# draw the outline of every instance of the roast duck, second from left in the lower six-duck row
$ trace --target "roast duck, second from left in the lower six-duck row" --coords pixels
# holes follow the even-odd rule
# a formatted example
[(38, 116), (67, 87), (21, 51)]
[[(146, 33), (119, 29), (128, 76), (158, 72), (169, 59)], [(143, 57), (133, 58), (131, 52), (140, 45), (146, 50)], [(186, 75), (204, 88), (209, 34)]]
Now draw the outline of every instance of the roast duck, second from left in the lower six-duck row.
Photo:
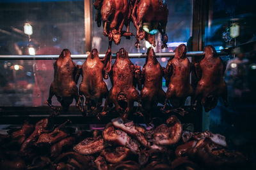
[(82, 66), (83, 79), (79, 86), (79, 94), (81, 95), (82, 105), (83, 96), (86, 99), (86, 111), (97, 110), (102, 104), (102, 98), (108, 96), (108, 87), (103, 81), (103, 77), (108, 78), (111, 64), (109, 58), (104, 59), (104, 63), (100, 61), (97, 49), (93, 49), (84, 62)]

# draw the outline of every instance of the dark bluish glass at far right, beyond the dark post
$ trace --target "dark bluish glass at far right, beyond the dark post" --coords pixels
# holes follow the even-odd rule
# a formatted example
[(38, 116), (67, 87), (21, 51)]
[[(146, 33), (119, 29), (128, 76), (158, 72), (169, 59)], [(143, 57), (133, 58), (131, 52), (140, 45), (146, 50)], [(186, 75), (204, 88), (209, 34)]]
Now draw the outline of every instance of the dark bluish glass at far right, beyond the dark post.
[[(205, 113), (204, 129), (221, 132), (230, 148), (239, 149), (255, 160), (255, 5), (256, 1), (212, 1), (212, 20), (205, 29), (205, 44), (228, 50), (225, 82), (228, 104)], [(253, 149), (252, 149), (253, 148)], [(253, 164), (255, 166), (255, 163)]]

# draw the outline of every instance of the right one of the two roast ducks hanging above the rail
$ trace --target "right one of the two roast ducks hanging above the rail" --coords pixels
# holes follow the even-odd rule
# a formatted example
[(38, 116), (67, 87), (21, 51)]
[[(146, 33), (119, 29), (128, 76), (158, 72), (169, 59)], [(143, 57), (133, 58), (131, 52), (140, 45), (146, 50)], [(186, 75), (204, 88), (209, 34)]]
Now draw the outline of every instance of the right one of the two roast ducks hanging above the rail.
[(137, 29), (135, 46), (140, 47), (140, 41), (145, 38), (150, 44), (156, 46), (155, 34), (162, 35), (162, 48), (167, 48), (168, 36), (166, 24), (168, 8), (163, 0), (136, 0), (132, 10), (132, 22)]

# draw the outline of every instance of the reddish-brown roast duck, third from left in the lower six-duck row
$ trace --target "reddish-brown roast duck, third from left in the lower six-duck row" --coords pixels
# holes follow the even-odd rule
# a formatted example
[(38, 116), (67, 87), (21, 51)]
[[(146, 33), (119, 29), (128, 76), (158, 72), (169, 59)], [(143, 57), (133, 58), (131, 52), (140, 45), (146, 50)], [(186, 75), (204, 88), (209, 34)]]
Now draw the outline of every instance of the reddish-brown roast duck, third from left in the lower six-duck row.
[(121, 48), (116, 53), (116, 60), (111, 69), (110, 78), (113, 86), (109, 90), (102, 115), (106, 114), (109, 103), (115, 104), (116, 111), (122, 118), (127, 118), (131, 113), (134, 101), (137, 101), (140, 106), (140, 94), (134, 87), (135, 77), (140, 73), (140, 66), (134, 66), (129, 60), (128, 53)]

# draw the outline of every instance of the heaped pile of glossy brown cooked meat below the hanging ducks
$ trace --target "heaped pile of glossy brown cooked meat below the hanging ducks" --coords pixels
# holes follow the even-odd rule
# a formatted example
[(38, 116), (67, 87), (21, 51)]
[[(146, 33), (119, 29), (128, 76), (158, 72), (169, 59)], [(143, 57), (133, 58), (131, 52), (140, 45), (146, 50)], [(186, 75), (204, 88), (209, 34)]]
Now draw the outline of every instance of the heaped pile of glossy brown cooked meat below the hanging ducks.
[(164, 124), (114, 118), (103, 131), (80, 131), (69, 120), (35, 125), (0, 136), (0, 169), (246, 169), (248, 160), (227, 149), (225, 136), (183, 129), (172, 115)]

